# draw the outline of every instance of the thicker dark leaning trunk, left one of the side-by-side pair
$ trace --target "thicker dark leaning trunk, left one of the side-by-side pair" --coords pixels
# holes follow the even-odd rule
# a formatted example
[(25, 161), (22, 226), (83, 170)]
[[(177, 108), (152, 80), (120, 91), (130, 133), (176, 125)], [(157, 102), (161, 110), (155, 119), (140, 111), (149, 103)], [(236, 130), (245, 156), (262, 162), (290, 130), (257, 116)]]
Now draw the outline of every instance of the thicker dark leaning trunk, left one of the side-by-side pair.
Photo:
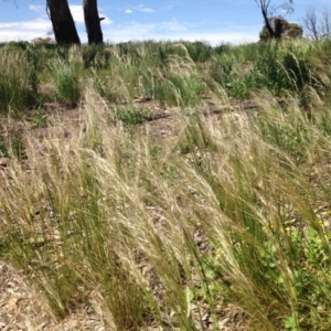
[(60, 44), (81, 44), (67, 0), (47, 0), (55, 40)]

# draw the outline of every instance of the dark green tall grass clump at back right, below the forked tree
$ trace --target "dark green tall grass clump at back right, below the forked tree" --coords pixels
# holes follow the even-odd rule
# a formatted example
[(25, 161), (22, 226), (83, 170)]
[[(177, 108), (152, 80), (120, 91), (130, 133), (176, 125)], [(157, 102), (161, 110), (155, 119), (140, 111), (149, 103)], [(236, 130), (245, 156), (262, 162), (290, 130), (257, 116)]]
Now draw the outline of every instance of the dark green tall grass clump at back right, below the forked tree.
[(329, 60), (318, 54), (319, 47), (308, 41), (224, 49), (212, 62), (211, 75), (235, 98), (247, 98), (266, 87), (278, 97), (296, 93), (308, 104), (311, 88), (323, 93), (330, 83)]

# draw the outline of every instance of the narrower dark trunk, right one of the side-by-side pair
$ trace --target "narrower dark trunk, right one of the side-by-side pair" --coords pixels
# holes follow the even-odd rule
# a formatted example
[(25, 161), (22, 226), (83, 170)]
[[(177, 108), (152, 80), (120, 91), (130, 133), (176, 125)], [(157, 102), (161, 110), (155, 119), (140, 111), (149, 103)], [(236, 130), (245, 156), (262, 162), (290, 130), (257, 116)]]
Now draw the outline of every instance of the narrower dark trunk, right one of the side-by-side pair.
[(103, 44), (102, 19), (98, 14), (97, 0), (84, 0), (84, 19), (88, 44)]

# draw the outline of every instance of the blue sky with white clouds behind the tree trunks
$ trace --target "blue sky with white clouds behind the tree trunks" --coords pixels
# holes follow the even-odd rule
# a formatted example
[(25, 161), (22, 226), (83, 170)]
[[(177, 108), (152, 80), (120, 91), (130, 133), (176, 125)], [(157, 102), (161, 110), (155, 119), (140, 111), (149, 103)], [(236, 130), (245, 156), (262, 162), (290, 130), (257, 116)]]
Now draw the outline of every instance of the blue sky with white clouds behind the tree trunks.
[[(277, 6), (284, 0), (271, 0)], [(331, 7), (330, 0), (293, 0), (285, 18), (300, 23), (308, 8)], [(0, 42), (53, 38), (46, 0), (0, 0)], [(83, 0), (68, 0), (81, 42), (87, 41)], [(204, 41), (249, 43), (263, 28), (255, 0), (98, 0), (104, 41)], [(279, 12), (281, 13), (281, 12)]]

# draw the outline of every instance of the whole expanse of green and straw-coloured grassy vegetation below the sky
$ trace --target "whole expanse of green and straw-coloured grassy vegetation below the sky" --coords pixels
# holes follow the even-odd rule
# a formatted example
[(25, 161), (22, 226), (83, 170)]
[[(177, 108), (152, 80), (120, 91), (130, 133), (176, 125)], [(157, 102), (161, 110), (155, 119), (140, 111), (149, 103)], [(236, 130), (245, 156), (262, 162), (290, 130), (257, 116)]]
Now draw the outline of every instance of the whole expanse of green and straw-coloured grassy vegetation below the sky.
[(330, 53), (3, 45), (0, 259), (55, 318), (88, 306), (109, 330), (223, 330), (228, 307), (245, 330), (330, 330)]

